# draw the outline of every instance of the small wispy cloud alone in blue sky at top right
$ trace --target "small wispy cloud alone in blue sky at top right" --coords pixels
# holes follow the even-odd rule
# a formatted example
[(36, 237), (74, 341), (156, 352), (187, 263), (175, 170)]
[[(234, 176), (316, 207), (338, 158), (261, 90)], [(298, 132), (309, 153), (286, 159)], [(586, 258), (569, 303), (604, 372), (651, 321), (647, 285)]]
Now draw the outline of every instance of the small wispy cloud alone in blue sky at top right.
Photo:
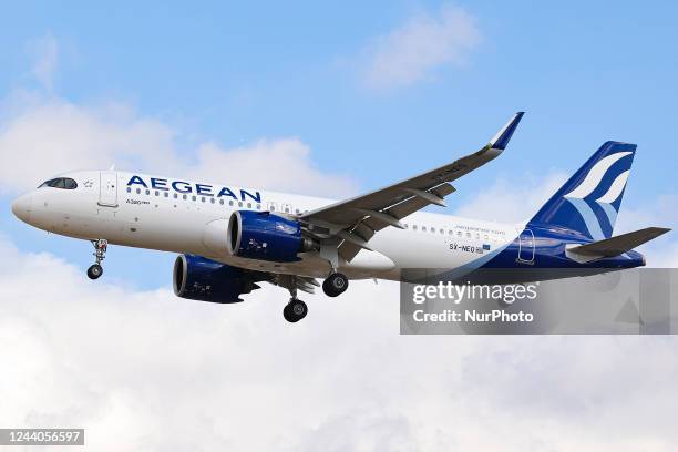
[(442, 65), (463, 66), (480, 42), (475, 18), (462, 8), (417, 13), (363, 50), (364, 81), (376, 89), (411, 85)]

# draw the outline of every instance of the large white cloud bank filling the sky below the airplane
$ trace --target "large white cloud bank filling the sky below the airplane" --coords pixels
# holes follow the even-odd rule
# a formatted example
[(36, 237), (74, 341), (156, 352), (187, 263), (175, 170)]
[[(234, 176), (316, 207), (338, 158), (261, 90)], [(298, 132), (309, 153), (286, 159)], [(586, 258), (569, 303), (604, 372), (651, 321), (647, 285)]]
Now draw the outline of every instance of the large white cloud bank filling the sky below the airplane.
[[(400, 336), (398, 285), (178, 299), (0, 239), (0, 424), (88, 450), (670, 450), (672, 337)], [(577, 369), (573, 378), (572, 369)], [(610, 438), (607, 432), (617, 432)]]

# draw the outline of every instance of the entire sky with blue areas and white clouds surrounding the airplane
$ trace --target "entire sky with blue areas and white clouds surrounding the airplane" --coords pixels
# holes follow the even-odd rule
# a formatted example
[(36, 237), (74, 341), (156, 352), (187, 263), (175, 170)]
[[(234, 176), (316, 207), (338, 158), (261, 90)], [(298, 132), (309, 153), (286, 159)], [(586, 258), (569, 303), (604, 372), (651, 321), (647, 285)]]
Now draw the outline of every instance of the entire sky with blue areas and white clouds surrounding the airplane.
[[(236, 306), (175, 298), (171, 254), (111, 247), (91, 282), (89, 243), (30, 228), (10, 203), (113, 164), (341, 198), (474, 152), (526, 111), (506, 152), (433, 212), (527, 218), (617, 140), (638, 152), (616, 232), (675, 228), (677, 13), (653, 1), (6, 6), (0, 424), (84, 425), (92, 450), (117, 451), (194, 445), (178, 432), (204, 450), (669, 450), (672, 338), (401, 337), (398, 286), (367, 281), (309, 297), (292, 328), (278, 288)], [(650, 265), (678, 265), (674, 235), (644, 249)]]

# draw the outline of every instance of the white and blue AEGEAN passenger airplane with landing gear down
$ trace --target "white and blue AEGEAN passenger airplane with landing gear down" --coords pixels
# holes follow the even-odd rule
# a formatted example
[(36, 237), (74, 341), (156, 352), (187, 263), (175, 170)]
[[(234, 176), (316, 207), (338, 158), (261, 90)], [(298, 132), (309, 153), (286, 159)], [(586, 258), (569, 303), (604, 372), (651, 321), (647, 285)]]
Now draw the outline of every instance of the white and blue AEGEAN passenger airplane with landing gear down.
[(613, 236), (635, 144), (604, 143), (521, 224), (420, 212), (445, 206), (452, 182), (497, 157), (523, 114), (475, 153), (346, 201), (110, 170), (53, 177), (19, 196), (12, 212), (37, 228), (90, 240), (91, 279), (102, 275), (109, 244), (174, 251), (176, 296), (232, 304), (270, 282), (289, 291), (282, 314), (290, 322), (306, 317), (297, 294), (314, 292), (317, 279), (337, 297), (350, 279), (399, 280), (407, 268), (590, 275), (644, 266), (634, 248), (670, 229)]

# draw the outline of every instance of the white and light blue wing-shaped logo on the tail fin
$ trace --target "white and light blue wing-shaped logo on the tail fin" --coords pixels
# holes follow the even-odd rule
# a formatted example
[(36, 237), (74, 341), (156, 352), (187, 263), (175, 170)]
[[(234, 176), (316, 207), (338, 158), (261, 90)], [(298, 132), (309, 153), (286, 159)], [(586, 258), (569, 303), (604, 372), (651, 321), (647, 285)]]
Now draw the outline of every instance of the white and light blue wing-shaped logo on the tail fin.
[[(600, 240), (609, 234), (604, 234), (603, 228), (608, 229), (612, 233), (612, 228), (617, 219), (619, 203), (617, 199), (622, 196), (626, 181), (630, 173), (630, 163), (626, 171), (617, 174), (616, 176), (610, 173), (610, 168), (619, 160), (627, 155), (633, 154), (631, 152), (618, 152), (615, 154), (607, 155), (600, 158), (586, 174), (584, 181), (577, 185), (572, 192), (564, 195), (564, 197), (572, 203), (577, 209), (586, 228), (594, 240)], [(614, 179), (612, 179), (614, 177)], [(607, 186), (607, 189), (602, 195), (599, 194), (603, 189), (603, 185)], [(597, 196), (592, 196), (598, 194)], [(598, 206), (599, 208), (596, 208)], [(603, 212), (605, 217), (600, 214), (596, 214), (596, 210)]]

